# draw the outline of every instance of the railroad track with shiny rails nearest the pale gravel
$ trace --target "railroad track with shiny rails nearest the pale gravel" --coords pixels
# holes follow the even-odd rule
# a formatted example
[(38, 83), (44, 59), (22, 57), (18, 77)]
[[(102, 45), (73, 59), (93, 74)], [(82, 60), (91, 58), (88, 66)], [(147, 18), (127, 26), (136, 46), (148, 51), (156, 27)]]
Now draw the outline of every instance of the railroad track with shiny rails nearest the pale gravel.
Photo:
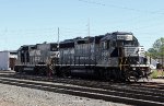
[[(44, 81), (32, 81), (12, 78), (0, 78), (0, 83), (16, 85), (22, 87), (38, 89), (49, 92), (70, 94), (75, 96), (83, 96), (96, 99), (104, 99), (116, 103), (124, 103), (130, 105), (140, 106), (164, 106), (164, 93), (153, 93), (145, 91), (125, 91), (122, 87), (116, 89), (116, 86), (110, 90), (96, 89), (89, 86), (79, 86), (66, 83), (52, 83)], [(144, 92), (144, 94), (143, 94)]]

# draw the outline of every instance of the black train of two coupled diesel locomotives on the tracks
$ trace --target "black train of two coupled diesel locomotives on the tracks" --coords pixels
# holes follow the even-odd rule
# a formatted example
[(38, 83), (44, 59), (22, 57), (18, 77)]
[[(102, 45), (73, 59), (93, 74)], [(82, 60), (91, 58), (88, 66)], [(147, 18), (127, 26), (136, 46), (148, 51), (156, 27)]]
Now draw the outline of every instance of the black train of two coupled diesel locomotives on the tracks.
[(116, 81), (138, 81), (151, 73), (143, 47), (127, 32), (26, 45), (20, 47), (17, 55), (16, 72)]

